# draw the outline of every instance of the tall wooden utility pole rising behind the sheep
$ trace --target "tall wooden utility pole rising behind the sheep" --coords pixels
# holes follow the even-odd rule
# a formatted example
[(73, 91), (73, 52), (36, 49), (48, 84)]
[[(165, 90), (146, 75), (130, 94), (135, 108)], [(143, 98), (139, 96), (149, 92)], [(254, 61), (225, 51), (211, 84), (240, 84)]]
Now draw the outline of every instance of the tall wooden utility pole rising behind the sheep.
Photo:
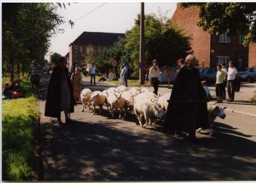
[[(140, 12), (140, 63), (145, 61), (145, 49), (144, 49), (144, 3), (141, 3), (141, 12)], [(145, 76), (144, 70), (140, 68), (140, 84), (144, 84)]]

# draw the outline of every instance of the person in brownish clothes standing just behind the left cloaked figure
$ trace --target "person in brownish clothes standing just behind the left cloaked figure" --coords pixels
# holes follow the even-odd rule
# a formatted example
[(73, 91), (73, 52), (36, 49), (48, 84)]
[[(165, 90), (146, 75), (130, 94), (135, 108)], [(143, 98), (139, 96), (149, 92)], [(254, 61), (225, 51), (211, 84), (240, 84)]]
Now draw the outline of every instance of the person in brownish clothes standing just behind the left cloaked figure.
[(81, 93), (81, 83), (82, 83), (82, 76), (80, 74), (79, 68), (76, 67), (75, 73), (71, 76), (71, 82), (73, 84), (73, 91), (74, 91), (74, 101), (75, 104), (80, 99), (80, 93)]

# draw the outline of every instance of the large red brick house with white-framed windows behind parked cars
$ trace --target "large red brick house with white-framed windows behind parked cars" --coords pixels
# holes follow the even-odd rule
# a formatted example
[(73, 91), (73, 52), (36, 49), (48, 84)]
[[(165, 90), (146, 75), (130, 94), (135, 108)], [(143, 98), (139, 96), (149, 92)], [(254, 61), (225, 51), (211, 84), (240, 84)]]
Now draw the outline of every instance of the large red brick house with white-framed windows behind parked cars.
[[(249, 47), (243, 46), (243, 33), (234, 36), (228, 36), (227, 33), (212, 35), (197, 26), (198, 13), (195, 6), (182, 10), (177, 3), (170, 23), (177, 25), (185, 35), (191, 36), (191, 48), (201, 67), (216, 67), (223, 62), (228, 65), (228, 61), (234, 61), (236, 67), (241, 68), (248, 67), (249, 59), (255, 60), (255, 52), (250, 51), (249, 54)], [(253, 46), (250, 48), (256, 50)]]

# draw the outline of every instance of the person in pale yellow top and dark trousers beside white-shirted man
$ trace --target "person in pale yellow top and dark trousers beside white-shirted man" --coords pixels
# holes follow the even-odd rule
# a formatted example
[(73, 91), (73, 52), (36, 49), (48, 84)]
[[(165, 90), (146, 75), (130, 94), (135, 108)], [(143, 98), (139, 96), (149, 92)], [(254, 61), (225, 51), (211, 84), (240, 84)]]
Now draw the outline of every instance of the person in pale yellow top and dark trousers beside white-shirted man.
[(223, 91), (225, 91), (225, 76), (226, 73), (221, 70), (221, 65), (217, 67), (218, 71), (216, 74), (216, 97), (219, 97), (218, 102), (222, 102), (223, 100)]

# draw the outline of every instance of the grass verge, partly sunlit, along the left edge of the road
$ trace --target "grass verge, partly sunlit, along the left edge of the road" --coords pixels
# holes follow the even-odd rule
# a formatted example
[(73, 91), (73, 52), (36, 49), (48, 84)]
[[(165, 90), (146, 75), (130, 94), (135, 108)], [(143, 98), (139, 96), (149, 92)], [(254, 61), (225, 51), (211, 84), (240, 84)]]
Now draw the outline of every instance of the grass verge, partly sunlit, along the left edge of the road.
[(3, 100), (4, 180), (30, 180), (31, 156), (35, 153), (36, 99)]

